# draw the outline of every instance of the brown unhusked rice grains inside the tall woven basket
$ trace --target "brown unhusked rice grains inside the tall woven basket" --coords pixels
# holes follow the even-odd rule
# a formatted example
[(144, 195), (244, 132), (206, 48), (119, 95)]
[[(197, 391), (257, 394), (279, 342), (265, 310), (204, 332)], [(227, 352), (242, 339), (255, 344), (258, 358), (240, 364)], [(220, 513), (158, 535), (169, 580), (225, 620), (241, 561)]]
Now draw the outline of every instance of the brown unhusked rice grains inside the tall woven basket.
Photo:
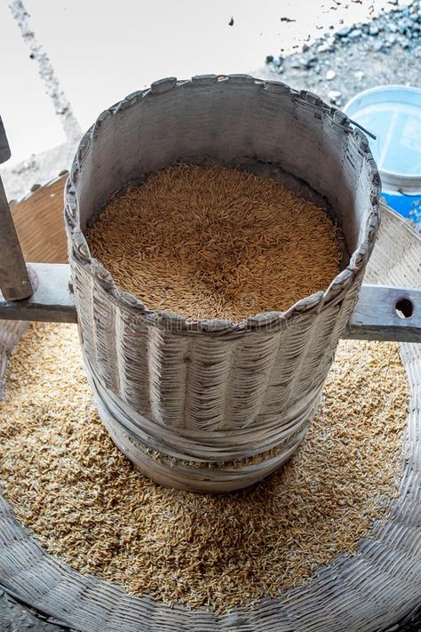
[(88, 231), (91, 254), (147, 308), (231, 318), (284, 311), (340, 271), (341, 232), (272, 180), (173, 164), (115, 198)]

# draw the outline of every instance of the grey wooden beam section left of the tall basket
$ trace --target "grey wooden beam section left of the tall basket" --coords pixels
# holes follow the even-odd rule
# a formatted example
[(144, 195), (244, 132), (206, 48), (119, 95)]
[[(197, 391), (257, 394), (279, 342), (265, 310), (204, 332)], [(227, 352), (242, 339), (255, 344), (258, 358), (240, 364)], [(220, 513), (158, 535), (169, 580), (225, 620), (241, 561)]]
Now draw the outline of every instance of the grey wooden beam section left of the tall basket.
[(76, 323), (75, 297), (68, 287), (69, 265), (31, 263), (28, 268), (36, 278), (34, 293), (13, 301), (0, 293), (0, 319)]

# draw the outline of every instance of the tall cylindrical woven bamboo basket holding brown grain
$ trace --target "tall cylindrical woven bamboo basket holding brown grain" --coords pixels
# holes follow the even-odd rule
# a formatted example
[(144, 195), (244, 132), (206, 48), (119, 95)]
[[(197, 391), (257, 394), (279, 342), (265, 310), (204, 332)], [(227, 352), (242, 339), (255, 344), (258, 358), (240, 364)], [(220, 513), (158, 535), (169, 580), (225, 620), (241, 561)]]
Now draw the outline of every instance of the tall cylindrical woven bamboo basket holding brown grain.
[[(85, 233), (113, 196), (176, 162), (257, 172), (333, 213), (346, 241), (341, 273), (284, 313), (236, 324), (148, 309), (92, 259)], [(365, 136), (338, 109), (285, 84), (168, 78), (99, 116), (68, 178), (68, 256), (99, 413), (136, 466), (161, 484), (226, 492), (290, 457), (361, 286), (377, 234), (378, 190)], [(273, 448), (276, 455), (258, 464), (226, 467)], [(203, 462), (216, 467), (191, 467)]]

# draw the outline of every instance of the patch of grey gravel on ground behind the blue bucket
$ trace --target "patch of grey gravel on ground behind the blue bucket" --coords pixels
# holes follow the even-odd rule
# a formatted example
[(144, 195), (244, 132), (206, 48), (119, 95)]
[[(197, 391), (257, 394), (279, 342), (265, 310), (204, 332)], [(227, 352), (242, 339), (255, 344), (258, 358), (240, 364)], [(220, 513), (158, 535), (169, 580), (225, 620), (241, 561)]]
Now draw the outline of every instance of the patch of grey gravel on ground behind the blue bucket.
[(342, 28), (283, 59), (266, 58), (260, 76), (315, 92), (343, 107), (357, 92), (382, 84), (421, 85), (421, 0), (393, 6), (369, 24)]

